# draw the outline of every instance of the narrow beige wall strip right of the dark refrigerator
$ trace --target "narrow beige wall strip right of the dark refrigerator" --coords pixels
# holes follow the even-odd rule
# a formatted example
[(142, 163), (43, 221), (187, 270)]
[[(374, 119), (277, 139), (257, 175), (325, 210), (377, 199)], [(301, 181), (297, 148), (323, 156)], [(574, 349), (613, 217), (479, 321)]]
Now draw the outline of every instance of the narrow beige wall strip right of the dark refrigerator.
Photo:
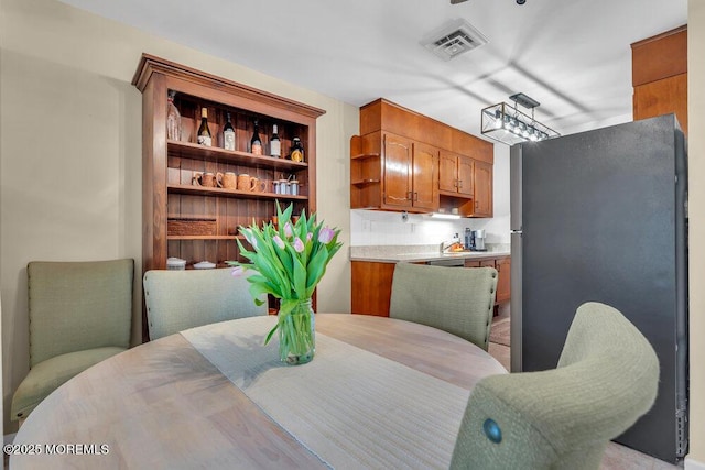
[[(691, 451), (705, 469), (705, 1), (687, 10)], [(688, 463), (691, 463), (688, 461)], [(687, 463), (686, 463), (687, 467)]]

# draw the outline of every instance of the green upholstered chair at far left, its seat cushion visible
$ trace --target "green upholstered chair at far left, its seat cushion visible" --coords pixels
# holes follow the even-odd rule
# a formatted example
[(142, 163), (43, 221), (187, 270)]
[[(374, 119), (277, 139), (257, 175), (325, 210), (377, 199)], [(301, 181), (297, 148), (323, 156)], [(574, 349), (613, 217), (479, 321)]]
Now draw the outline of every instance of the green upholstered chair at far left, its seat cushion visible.
[(10, 412), (20, 423), (64, 382), (130, 347), (134, 261), (33, 261), (26, 274), (30, 372)]

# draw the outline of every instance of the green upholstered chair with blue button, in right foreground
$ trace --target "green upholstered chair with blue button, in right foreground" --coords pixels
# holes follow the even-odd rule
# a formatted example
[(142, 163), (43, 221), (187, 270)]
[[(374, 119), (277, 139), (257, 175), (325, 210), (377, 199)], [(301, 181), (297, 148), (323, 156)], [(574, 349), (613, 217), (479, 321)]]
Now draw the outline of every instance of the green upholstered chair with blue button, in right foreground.
[(647, 413), (659, 360), (617, 309), (578, 307), (556, 369), (492, 375), (470, 394), (453, 469), (598, 469), (608, 441)]

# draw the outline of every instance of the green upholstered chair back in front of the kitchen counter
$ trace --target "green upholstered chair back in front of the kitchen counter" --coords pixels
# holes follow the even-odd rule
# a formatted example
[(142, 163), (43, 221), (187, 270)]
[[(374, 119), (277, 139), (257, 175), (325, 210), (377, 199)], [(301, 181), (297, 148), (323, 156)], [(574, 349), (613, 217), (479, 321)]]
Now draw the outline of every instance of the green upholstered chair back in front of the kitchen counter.
[(496, 291), (494, 267), (397, 263), (389, 316), (448, 331), (487, 351)]

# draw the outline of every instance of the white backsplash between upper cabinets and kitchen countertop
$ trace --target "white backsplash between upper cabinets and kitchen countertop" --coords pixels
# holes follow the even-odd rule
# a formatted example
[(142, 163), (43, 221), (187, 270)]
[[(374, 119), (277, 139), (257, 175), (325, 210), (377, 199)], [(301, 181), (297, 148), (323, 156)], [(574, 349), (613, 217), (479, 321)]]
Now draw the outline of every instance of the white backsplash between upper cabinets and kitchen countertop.
[(433, 244), (460, 238), (465, 228), (485, 229), (486, 243), (509, 243), (509, 216), (491, 219), (434, 219), (426, 215), (354, 209), (350, 211), (351, 245)]

